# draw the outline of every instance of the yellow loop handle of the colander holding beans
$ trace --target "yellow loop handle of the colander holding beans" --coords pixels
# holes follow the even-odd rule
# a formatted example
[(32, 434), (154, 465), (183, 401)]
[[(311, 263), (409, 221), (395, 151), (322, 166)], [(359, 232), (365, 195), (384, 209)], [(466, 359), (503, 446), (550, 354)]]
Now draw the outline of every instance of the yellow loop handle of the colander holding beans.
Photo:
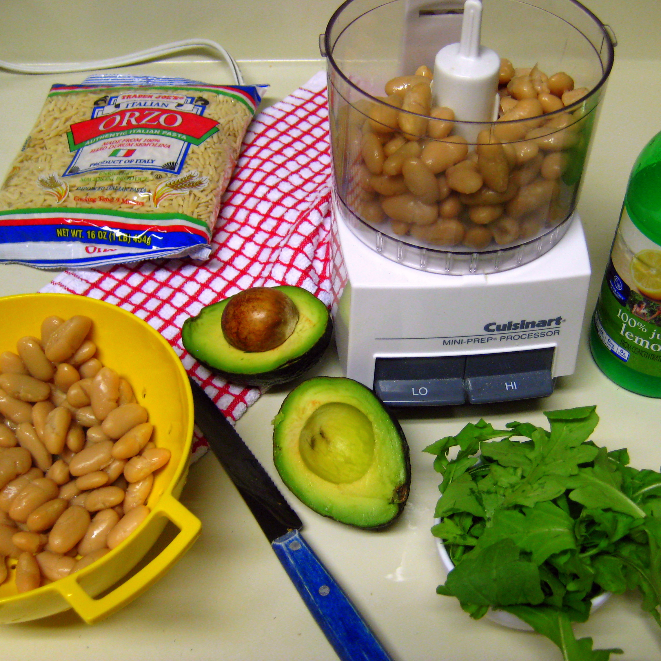
[(202, 527), (200, 520), (194, 514), (191, 514), (172, 494), (163, 494), (153, 512), (149, 514), (145, 526), (148, 528), (150, 525), (162, 525), (162, 522), (159, 522), (162, 517), (169, 519), (179, 528), (178, 535), (149, 564), (117, 586), (112, 592), (100, 599), (92, 598), (81, 588), (78, 582), (81, 575), (85, 575), (82, 573), (67, 576), (54, 583), (61, 596), (85, 622), (94, 624), (132, 602), (169, 571), (173, 564), (188, 551), (200, 534), (200, 528)]

